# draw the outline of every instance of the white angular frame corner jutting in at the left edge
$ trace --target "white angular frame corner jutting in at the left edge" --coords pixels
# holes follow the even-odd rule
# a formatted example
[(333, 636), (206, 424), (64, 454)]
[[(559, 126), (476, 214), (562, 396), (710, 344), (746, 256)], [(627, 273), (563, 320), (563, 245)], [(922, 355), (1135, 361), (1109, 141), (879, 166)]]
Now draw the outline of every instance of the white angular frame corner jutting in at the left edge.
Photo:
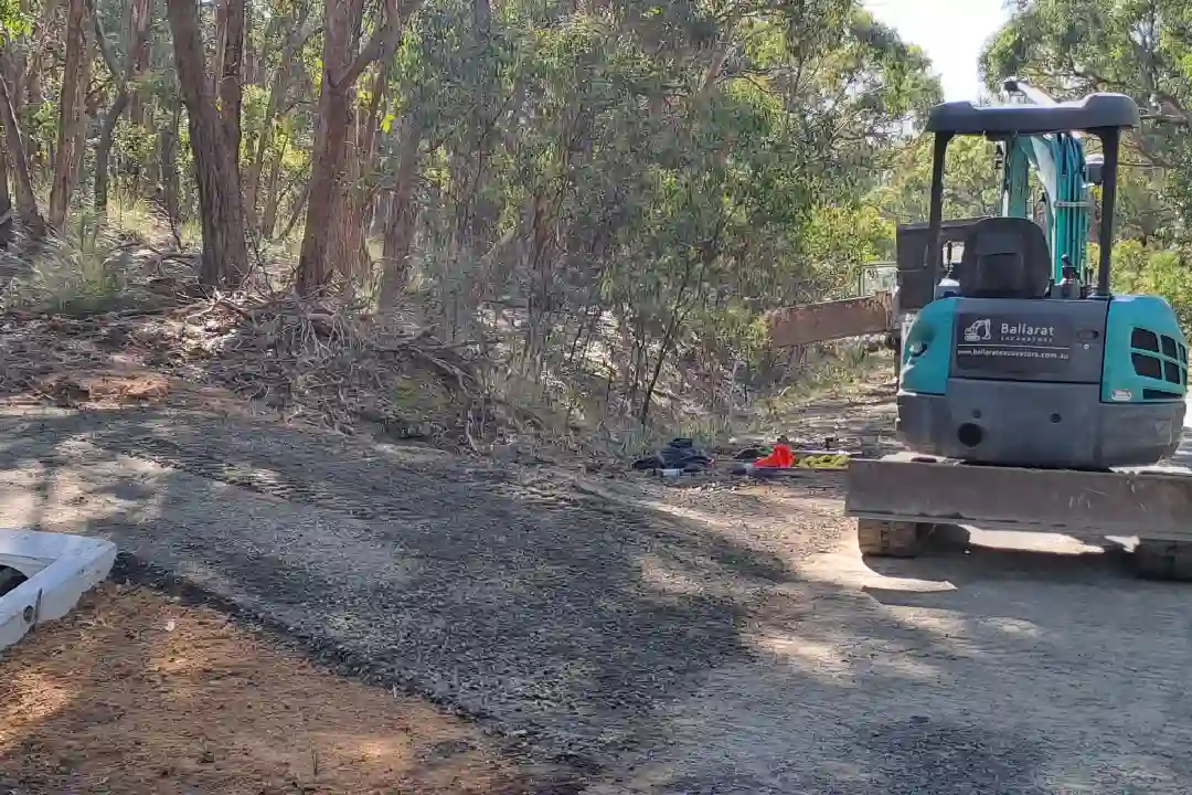
[[(67, 533), (0, 529), (0, 650), (61, 619), (116, 563), (116, 545)], [(20, 573), (17, 576), (12, 570)], [(25, 582), (4, 592), (14, 580)]]

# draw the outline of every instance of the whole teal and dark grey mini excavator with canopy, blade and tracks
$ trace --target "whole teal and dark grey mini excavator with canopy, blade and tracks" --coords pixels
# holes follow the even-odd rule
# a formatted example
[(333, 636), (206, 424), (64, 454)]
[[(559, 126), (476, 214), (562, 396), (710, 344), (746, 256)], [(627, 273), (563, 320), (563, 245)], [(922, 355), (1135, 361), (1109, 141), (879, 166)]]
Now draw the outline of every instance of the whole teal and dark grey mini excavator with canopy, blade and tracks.
[[(1120, 471), (1177, 451), (1187, 392), (1187, 340), (1171, 305), (1110, 288), (1118, 153), (1138, 107), (1122, 94), (1056, 103), (1020, 81), (1005, 87), (1025, 101), (929, 114), (930, 217), (898, 240), (898, 299), (911, 312), (898, 436), (909, 453), (855, 460), (846, 513), (870, 555), (915, 555), (956, 524), (1137, 536), (1142, 573), (1192, 578), (1192, 477)], [(1001, 216), (943, 218), (945, 155), (962, 135), (998, 144)], [(1086, 135), (1100, 159), (1086, 161)], [(1043, 186), (1033, 217), (1028, 166)], [(961, 259), (945, 262), (954, 244)]]

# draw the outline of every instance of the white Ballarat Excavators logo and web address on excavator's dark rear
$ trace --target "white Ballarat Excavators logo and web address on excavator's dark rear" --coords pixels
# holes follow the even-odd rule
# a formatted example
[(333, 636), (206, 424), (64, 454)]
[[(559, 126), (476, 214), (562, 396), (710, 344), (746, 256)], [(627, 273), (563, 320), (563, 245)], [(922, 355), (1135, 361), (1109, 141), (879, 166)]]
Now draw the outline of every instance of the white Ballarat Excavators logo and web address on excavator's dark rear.
[(962, 315), (956, 329), (956, 365), (962, 369), (1057, 369), (1072, 358), (1072, 329), (1017, 317)]

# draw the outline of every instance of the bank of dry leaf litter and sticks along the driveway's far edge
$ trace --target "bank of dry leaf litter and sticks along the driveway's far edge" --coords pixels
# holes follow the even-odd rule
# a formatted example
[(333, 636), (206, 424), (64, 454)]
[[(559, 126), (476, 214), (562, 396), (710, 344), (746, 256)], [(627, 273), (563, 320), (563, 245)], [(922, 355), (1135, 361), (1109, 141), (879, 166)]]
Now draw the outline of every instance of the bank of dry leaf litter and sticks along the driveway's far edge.
[(213, 410), (603, 468), (675, 435), (718, 447), (797, 433), (808, 402), (857, 391), (893, 369), (889, 355), (834, 346), (793, 385), (728, 414), (689, 406), (647, 428), (615, 415), (578, 423), (535, 402), (524, 385), (493, 379), (498, 367), (467, 343), (341, 300), (240, 294), (170, 303), (77, 317), (10, 311), (0, 319), (0, 395), (70, 408)]

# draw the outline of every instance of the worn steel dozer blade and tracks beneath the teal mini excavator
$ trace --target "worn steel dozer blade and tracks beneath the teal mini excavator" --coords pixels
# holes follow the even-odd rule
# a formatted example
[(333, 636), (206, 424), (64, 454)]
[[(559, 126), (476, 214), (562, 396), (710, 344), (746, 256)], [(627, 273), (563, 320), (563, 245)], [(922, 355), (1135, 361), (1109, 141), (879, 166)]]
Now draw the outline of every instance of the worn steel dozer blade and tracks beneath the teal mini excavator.
[(863, 554), (914, 557), (942, 528), (1137, 538), (1135, 567), (1192, 580), (1192, 477), (1179, 471), (1082, 472), (981, 466), (898, 454), (855, 459), (845, 514)]

